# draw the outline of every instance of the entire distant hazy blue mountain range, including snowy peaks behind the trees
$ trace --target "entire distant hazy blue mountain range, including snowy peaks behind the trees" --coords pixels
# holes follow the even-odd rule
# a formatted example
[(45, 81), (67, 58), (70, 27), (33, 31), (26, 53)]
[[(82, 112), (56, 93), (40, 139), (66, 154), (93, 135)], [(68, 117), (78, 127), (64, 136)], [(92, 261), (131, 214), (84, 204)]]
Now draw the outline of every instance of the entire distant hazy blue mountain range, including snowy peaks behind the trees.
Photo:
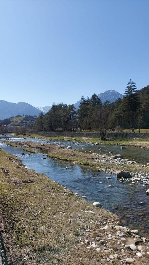
[[(104, 103), (106, 100), (109, 100), (110, 103), (117, 100), (119, 97), (123, 98), (123, 95), (115, 90), (107, 90), (104, 93), (98, 94), (102, 102)], [(77, 101), (74, 106), (76, 109), (79, 108), (80, 100)], [(11, 103), (5, 100), (0, 100), (0, 119), (3, 120), (5, 118), (9, 118), (12, 116), (20, 115), (36, 115), (42, 111), (44, 114), (47, 113), (52, 106), (45, 107), (33, 107), (32, 105), (26, 102), (18, 102)]]

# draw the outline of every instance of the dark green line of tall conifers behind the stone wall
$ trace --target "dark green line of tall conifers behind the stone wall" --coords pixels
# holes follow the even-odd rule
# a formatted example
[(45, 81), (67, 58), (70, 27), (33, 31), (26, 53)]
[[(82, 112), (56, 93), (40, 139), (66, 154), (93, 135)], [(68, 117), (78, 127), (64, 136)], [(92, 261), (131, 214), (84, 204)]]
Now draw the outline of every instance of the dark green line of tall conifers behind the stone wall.
[[(147, 91), (149, 90), (149, 86)], [(146, 93), (146, 92), (145, 92)], [(91, 98), (81, 97), (79, 109), (74, 105), (55, 104), (47, 114), (40, 113), (34, 124), (34, 129), (39, 131), (52, 130), (99, 130), (101, 138), (105, 138), (107, 129), (115, 130), (116, 127), (134, 129), (149, 127), (148, 114), (149, 94), (138, 94), (136, 84), (131, 79), (126, 87), (123, 99), (113, 103), (106, 100), (104, 103), (98, 95), (93, 94)]]

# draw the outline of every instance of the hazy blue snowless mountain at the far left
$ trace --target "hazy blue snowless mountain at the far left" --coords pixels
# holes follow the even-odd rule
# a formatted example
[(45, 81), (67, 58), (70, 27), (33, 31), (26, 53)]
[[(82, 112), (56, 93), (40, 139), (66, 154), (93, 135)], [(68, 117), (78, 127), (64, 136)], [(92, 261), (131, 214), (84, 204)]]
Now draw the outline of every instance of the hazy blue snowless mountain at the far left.
[(12, 103), (5, 100), (0, 100), (0, 119), (6, 119), (12, 116), (20, 115), (36, 115), (38, 116), (40, 110), (26, 102)]

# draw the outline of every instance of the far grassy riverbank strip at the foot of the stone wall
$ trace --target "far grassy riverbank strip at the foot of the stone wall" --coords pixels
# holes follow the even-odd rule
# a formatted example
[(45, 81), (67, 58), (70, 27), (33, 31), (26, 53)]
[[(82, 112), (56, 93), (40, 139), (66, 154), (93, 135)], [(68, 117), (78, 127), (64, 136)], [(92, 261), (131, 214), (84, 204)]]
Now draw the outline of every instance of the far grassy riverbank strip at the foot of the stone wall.
[(70, 140), (70, 141), (77, 141), (77, 142), (86, 142), (86, 143), (96, 143), (99, 142), (100, 145), (124, 145), (124, 146), (133, 146), (133, 147), (143, 147), (149, 148), (149, 139), (148, 138), (138, 138), (138, 139), (129, 139), (129, 138), (108, 138), (106, 141), (101, 141), (100, 138), (87, 138), (87, 137), (64, 137), (64, 136), (57, 136), (57, 137), (46, 137), (37, 134), (27, 134), (27, 135), (17, 135), (16, 137), (38, 137), (40, 139), (57, 139), (57, 140)]

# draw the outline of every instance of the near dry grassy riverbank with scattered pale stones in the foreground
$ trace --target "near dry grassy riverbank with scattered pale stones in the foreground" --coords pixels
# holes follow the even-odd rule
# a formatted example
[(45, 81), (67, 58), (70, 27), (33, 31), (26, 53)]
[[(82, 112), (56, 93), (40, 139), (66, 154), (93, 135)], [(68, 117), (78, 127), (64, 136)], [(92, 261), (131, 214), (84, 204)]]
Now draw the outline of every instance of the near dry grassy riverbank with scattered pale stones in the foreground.
[[(120, 238), (113, 229), (118, 221), (114, 214), (74, 196), (1, 149), (0, 164), (1, 234), (9, 264), (97, 265), (114, 254), (118, 254), (114, 264), (120, 264), (124, 254), (135, 264), (148, 264), (148, 243), (141, 242), (145, 251), (141, 259), (124, 247), (122, 253), (123, 241), (117, 243)], [(103, 228), (104, 222), (108, 228)], [(108, 241), (108, 233), (115, 239)], [(128, 233), (125, 237), (134, 238)], [(93, 241), (100, 252), (91, 247)]]

